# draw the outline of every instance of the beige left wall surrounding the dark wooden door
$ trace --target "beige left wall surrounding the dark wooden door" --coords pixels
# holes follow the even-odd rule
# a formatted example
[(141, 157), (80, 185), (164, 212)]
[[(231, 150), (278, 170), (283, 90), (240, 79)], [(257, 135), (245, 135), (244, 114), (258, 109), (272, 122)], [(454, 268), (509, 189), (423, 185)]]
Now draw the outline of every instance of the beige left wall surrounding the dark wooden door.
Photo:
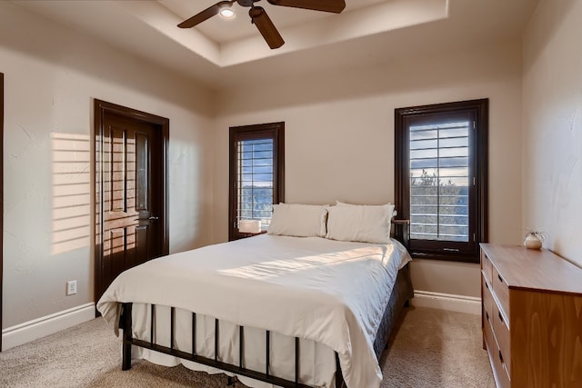
[[(0, 2), (0, 72), (5, 74), (3, 327), (93, 302), (90, 206), (72, 205), (86, 238), (55, 246), (56, 139), (73, 147), (66, 175), (92, 200), (93, 99), (170, 119), (170, 250), (207, 244), (211, 223), (212, 126), (208, 93), (164, 69)], [(78, 215), (81, 217), (78, 217)], [(79, 224), (80, 223), (80, 224)], [(77, 294), (65, 283), (77, 280)]]

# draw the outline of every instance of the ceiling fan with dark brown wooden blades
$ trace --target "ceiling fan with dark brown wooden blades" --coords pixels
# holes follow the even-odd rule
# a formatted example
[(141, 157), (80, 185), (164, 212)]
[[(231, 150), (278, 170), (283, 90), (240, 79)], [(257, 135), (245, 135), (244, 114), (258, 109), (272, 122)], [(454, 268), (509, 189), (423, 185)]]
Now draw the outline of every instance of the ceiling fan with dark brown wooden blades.
[[(190, 17), (180, 23), (180, 28), (191, 28), (199, 25), (205, 20), (217, 15), (223, 8), (230, 7), (235, 3), (238, 5), (250, 7), (248, 15), (251, 17), (251, 23), (256, 25), (259, 33), (263, 35), (266, 44), (272, 49), (279, 48), (285, 41), (276, 30), (271, 18), (266, 15), (266, 11), (261, 6), (256, 6), (261, 0), (229, 0), (219, 1), (216, 5), (211, 5), (204, 11)], [(311, 9), (314, 11), (332, 12), (340, 14), (346, 8), (345, 0), (267, 0), (272, 5), (291, 6), (294, 8)]]

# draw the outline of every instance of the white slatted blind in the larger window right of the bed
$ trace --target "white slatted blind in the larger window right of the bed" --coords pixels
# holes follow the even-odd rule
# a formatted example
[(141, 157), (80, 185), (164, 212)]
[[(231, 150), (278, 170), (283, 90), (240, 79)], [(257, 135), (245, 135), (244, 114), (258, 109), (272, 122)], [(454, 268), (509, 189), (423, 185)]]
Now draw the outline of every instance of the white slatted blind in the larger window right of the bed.
[(410, 238), (469, 241), (469, 121), (410, 126)]

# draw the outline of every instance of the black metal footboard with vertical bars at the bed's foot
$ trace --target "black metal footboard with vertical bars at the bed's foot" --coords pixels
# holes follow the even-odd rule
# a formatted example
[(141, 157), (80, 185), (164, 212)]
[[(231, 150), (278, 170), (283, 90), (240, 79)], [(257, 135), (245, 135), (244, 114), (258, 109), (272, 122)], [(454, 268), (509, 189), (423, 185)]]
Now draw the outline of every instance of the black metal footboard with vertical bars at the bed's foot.
[[(277, 386), (281, 386), (281, 387), (288, 387), (288, 388), (292, 388), (292, 387), (297, 387), (297, 388), (310, 388), (309, 385), (306, 384), (302, 384), (299, 383), (298, 379), (299, 379), (299, 338), (296, 337), (295, 339), (295, 381), (290, 381), (290, 380), (286, 380), (286, 379), (282, 379), (280, 377), (276, 377), (272, 374), (270, 374), (270, 365), (269, 365), (269, 360), (270, 360), (270, 337), (271, 337), (271, 332), (270, 331), (266, 331), (265, 335), (266, 335), (266, 367), (265, 367), (265, 373), (261, 373), (261, 372), (257, 372), (251, 369), (246, 369), (245, 367), (243, 367), (243, 360), (244, 360), (244, 356), (245, 356), (245, 342), (244, 342), (244, 338), (245, 338), (245, 327), (244, 326), (239, 326), (239, 349), (238, 349), (238, 356), (239, 356), (239, 364), (235, 365), (235, 364), (231, 364), (231, 363), (223, 363), (220, 360), (218, 360), (218, 345), (219, 345), (219, 336), (218, 336), (218, 325), (220, 324), (219, 321), (217, 319), (215, 319), (215, 356), (214, 358), (208, 358), (208, 357), (204, 357), (201, 356), (199, 354), (196, 354), (195, 352), (193, 353), (186, 353), (180, 350), (177, 350), (174, 348), (174, 338), (175, 338), (175, 313), (176, 313), (176, 308), (175, 307), (171, 307), (170, 308), (170, 346), (163, 346), (160, 345), (158, 343), (154, 342), (154, 327), (155, 327), (155, 320), (156, 320), (156, 305), (152, 304), (150, 306), (151, 308), (151, 315), (150, 315), (150, 319), (151, 319), (151, 333), (150, 333), (150, 341), (143, 341), (143, 340), (138, 340), (136, 338), (133, 338), (132, 335), (132, 303), (123, 303), (122, 304), (122, 313), (119, 319), (119, 328), (123, 329), (123, 349), (122, 349), (122, 353), (123, 353), (123, 360), (122, 360), (122, 370), (126, 371), (129, 370), (131, 368), (131, 347), (132, 345), (135, 346), (139, 346), (145, 349), (150, 349), (153, 351), (156, 351), (158, 353), (166, 353), (166, 354), (170, 354), (173, 356), (176, 356), (178, 358), (184, 359), (184, 360), (188, 360), (188, 361), (192, 361), (195, 363), (201, 363), (207, 366), (211, 366), (214, 367), (216, 369), (220, 369), (226, 372), (230, 372), (230, 373), (236, 373), (239, 375), (243, 375), (246, 377), (250, 377), (252, 379), (256, 379), (259, 381), (263, 381), (266, 383), (272, 383), (275, 384)], [(196, 313), (192, 313), (192, 349), (196, 349)], [(337, 369), (336, 369), (336, 388), (341, 388), (341, 386), (343, 385), (343, 376), (341, 375), (341, 369), (339, 368), (339, 357), (336, 353), (336, 365), (337, 365)]]

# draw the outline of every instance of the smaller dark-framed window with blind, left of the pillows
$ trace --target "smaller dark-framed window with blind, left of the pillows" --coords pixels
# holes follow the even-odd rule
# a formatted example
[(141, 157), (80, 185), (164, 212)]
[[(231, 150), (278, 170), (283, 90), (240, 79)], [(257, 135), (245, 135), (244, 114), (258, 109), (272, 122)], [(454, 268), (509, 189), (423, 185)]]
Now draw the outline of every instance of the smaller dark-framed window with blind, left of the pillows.
[(284, 139), (285, 123), (230, 128), (229, 240), (265, 232), (284, 202)]

